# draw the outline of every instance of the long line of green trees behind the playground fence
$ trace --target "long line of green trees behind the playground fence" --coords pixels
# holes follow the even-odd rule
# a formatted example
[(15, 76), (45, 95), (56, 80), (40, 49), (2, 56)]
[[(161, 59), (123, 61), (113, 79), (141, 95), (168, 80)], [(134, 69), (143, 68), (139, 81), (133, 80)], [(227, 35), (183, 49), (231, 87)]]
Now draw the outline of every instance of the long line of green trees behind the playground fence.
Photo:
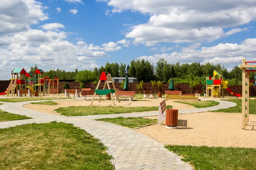
[[(31, 71), (35, 71), (35, 67), (31, 67)], [(202, 82), (203, 77), (209, 77), (213, 74), (213, 71), (218, 71), (225, 80), (229, 81), (229, 85), (241, 85), (242, 71), (238, 66), (229, 72), (224, 65), (211, 63), (200, 64), (199, 62), (193, 62), (191, 64), (184, 63), (175, 64), (168, 63), (165, 59), (159, 59), (156, 65), (148, 62), (144, 59), (131, 60), (130, 64), (125, 63), (107, 62), (105, 66), (100, 68), (94, 68), (93, 70), (78, 71), (65, 71), (61, 69), (51, 69), (45, 71), (45, 76), (50, 79), (58, 77), (62, 80), (75, 80), (76, 82), (95, 82), (99, 80), (99, 76), (102, 71), (106, 74), (110, 73), (112, 77), (134, 77), (138, 81), (150, 82), (150, 81), (161, 81), (170, 82), (171, 78), (174, 79), (175, 83), (196, 83)], [(250, 75), (250, 79), (255, 79), (254, 74)]]

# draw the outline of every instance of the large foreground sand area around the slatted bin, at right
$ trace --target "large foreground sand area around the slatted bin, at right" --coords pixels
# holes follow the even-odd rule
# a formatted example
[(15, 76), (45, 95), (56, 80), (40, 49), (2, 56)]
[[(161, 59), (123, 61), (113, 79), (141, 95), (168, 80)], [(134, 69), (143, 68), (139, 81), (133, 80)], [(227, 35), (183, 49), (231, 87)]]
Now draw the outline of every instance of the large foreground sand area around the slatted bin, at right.
[(187, 127), (168, 130), (165, 125), (155, 124), (136, 131), (164, 144), (256, 147), (256, 115), (250, 115), (246, 130), (241, 129), (241, 113), (180, 114), (179, 120), (186, 120)]

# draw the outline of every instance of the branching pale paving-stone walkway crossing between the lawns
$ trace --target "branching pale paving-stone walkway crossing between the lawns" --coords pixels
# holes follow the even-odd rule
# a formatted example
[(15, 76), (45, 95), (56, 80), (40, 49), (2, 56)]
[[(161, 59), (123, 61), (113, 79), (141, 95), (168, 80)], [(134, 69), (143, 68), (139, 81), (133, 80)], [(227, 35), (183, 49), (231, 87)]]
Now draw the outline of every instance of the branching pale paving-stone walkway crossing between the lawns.
[[(212, 99), (211, 99), (212, 100)], [(220, 105), (210, 108), (181, 110), (179, 114), (198, 113), (230, 108), (236, 106), (233, 102), (221, 101)], [(35, 101), (31, 101), (35, 102)], [(38, 101), (41, 102), (41, 101)], [(47, 123), (51, 121), (73, 123), (73, 125), (86, 130), (108, 147), (109, 154), (113, 156), (116, 170), (192, 170), (186, 162), (180, 160), (175, 153), (169, 152), (164, 145), (127, 127), (107, 122), (98, 122), (94, 119), (113, 118), (117, 116), (157, 116), (158, 112), (123, 113), (111, 115), (92, 116), (58, 116), (48, 113), (32, 111), (22, 106), (30, 102), (2, 102), (0, 109), (9, 113), (20, 114), (33, 119), (0, 122), (0, 128), (7, 128), (28, 123)]]

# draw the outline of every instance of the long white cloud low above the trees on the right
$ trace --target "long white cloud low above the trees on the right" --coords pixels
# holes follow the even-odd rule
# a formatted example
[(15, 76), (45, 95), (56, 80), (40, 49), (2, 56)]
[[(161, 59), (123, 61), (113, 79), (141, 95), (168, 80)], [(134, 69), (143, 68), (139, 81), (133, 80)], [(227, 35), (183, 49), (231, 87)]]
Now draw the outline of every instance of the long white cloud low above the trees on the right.
[(199, 44), (190, 45), (190, 48), (182, 48), (181, 52), (173, 52), (171, 54), (154, 54), (152, 56), (141, 56), (138, 59), (147, 59), (150, 62), (157, 62), (158, 59), (164, 58), (169, 63), (190, 63), (190, 62), (210, 62), (212, 64), (221, 63), (226, 67), (233, 67), (242, 62), (242, 58), (247, 60), (255, 60), (256, 38), (247, 39), (236, 43), (218, 44), (212, 47), (202, 47), (195, 49)]

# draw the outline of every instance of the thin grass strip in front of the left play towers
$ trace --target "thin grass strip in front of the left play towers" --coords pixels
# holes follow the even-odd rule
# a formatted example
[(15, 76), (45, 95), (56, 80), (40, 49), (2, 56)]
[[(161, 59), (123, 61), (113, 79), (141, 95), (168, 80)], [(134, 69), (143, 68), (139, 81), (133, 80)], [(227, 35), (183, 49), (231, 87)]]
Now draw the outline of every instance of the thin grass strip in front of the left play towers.
[(64, 97), (17, 97), (17, 98), (5, 98), (0, 99), (0, 102), (27, 102), (36, 100), (59, 100), (59, 99), (72, 99)]

